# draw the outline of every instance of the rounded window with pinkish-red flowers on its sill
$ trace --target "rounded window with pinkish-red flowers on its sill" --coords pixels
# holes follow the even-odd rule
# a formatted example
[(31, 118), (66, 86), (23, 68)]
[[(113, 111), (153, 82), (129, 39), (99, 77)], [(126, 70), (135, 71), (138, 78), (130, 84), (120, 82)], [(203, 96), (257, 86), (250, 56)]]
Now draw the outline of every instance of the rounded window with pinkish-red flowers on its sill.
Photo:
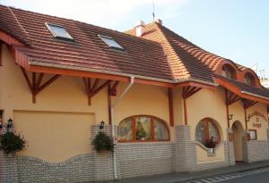
[(208, 148), (214, 148), (221, 141), (221, 135), (216, 123), (207, 118), (198, 123), (195, 138), (197, 142)]

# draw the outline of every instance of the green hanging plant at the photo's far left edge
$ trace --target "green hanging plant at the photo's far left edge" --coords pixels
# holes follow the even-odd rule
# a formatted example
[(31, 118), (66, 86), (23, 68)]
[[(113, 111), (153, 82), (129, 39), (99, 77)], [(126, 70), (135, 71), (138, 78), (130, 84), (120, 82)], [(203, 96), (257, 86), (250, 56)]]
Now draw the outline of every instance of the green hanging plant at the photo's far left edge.
[(15, 154), (25, 148), (26, 141), (21, 135), (16, 135), (13, 132), (5, 132), (0, 135), (0, 150), (4, 154)]

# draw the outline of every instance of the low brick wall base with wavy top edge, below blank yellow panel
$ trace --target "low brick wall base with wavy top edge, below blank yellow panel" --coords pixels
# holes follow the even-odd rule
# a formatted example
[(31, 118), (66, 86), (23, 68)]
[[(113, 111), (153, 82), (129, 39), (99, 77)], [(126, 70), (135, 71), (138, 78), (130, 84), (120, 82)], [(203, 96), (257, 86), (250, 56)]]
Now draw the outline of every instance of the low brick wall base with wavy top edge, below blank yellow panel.
[(19, 182), (85, 182), (92, 180), (92, 154), (77, 155), (65, 162), (50, 163), (18, 156)]

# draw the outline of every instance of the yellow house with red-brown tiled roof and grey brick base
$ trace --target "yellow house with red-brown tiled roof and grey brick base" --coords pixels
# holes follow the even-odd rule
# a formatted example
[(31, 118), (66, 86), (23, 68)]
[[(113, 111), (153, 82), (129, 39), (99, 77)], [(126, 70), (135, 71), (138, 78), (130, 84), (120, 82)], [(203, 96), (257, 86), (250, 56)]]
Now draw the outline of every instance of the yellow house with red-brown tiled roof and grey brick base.
[[(269, 159), (269, 91), (162, 25), (118, 32), (0, 5), (0, 118), (28, 142), (2, 182), (80, 182)], [(100, 122), (104, 121), (104, 129)], [(97, 153), (99, 131), (114, 152)]]

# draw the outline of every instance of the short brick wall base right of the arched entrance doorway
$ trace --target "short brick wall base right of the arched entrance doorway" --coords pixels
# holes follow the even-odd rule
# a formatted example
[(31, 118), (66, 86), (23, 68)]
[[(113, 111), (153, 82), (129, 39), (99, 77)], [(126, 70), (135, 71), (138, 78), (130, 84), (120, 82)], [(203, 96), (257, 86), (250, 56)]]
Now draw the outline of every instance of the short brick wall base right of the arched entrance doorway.
[(269, 141), (267, 140), (244, 140), (244, 161), (259, 162), (269, 159)]

